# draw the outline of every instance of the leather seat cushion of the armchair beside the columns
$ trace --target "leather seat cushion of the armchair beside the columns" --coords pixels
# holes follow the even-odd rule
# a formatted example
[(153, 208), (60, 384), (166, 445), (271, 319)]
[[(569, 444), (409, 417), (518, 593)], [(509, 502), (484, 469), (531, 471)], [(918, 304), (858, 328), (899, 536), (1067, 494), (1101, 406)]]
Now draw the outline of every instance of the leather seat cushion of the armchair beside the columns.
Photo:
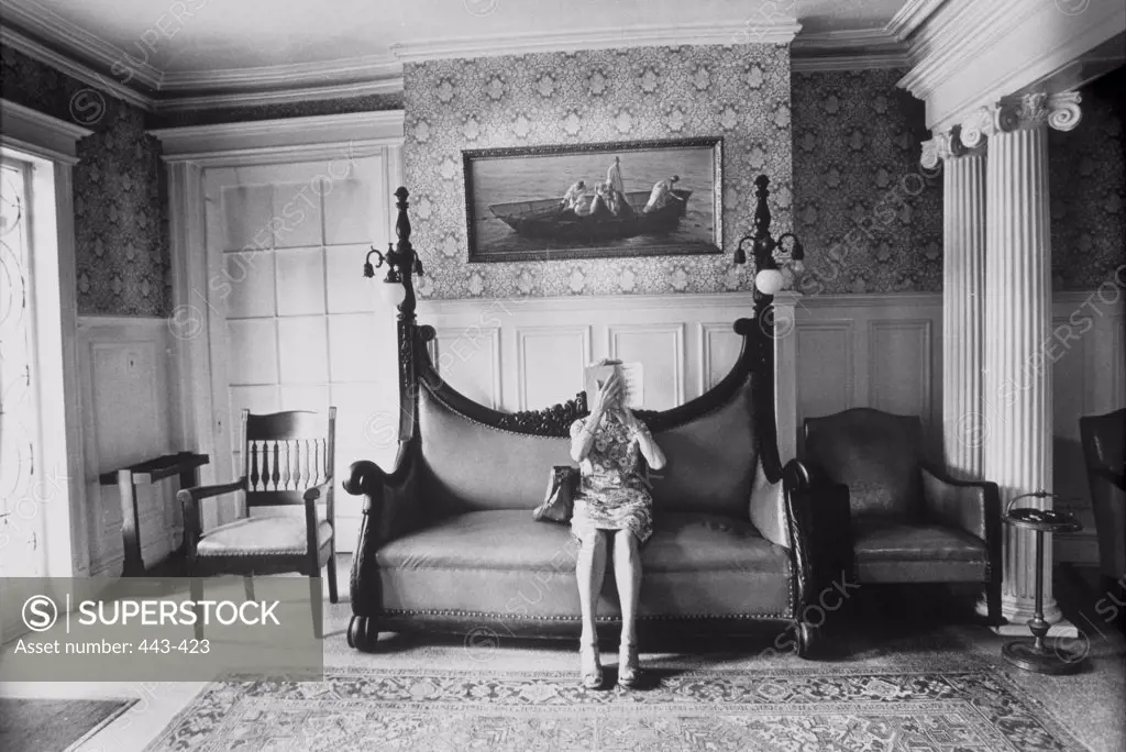
[(985, 541), (940, 525), (852, 521), (860, 582), (971, 582), (988, 579)]

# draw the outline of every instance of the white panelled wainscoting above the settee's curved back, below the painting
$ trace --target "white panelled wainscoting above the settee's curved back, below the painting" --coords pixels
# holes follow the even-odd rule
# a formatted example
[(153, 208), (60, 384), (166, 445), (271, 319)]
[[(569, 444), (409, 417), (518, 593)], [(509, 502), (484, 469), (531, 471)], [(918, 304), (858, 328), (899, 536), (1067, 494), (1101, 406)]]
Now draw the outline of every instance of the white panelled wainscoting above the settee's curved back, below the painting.
[(538, 410), (582, 391), (601, 358), (641, 361), (645, 405), (691, 400), (739, 356), (732, 325), (750, 294), (421, 301), (419, 323), (437, 331), (432, 356), (450, 385), (504, 411)]

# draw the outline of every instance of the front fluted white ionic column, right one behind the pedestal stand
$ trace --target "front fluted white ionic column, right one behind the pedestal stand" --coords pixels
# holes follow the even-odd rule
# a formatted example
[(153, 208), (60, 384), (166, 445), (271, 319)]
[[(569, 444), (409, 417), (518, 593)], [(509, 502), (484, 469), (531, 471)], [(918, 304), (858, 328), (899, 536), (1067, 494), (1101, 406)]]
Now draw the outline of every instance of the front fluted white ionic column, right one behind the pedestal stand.
[[(1052, 491), (1052, 242), (1047, 128), (1079, 123), (1079, 95), (1026, 95), (983, 108), (963, 125), (966, 146), (989, 137), (985, 169), (985, 338), (983, 469), (1001, 508)], [(1051, 499), (1021, 505), (1051, 507)], [(1030, 531), (1004, 526), (1001, 607), (1024, 625), (1034, 611), (1036, 548)], [(1052, 594), (1052, 540), (1045, 536), (1044, 616), (1058, 621)]]

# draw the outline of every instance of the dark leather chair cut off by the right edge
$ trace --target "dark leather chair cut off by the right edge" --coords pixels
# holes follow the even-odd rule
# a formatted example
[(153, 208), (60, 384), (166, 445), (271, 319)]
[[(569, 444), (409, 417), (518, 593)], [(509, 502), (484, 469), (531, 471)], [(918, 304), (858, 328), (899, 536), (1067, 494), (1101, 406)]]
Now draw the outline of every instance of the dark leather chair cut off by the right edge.
[(1126, 576), (1126, 408), (1079, 419), (1105, 589)]

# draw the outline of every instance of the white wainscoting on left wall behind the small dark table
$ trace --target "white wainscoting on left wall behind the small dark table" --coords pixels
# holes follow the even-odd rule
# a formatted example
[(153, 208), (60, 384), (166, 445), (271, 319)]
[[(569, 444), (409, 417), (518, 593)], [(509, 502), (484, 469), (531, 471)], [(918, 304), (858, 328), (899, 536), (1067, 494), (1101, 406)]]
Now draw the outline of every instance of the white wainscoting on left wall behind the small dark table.
[[(101, 486), (98, 476), (179, 449), (172, 440), (172, 342), (167, 319), (80, 316), (78, 344), (90, 574), (117, 575), (124, 557), (120, 498), (116, 485)], [(137, 487), (146, 565), (179, 546), (177, 490), (175, 478)]]

